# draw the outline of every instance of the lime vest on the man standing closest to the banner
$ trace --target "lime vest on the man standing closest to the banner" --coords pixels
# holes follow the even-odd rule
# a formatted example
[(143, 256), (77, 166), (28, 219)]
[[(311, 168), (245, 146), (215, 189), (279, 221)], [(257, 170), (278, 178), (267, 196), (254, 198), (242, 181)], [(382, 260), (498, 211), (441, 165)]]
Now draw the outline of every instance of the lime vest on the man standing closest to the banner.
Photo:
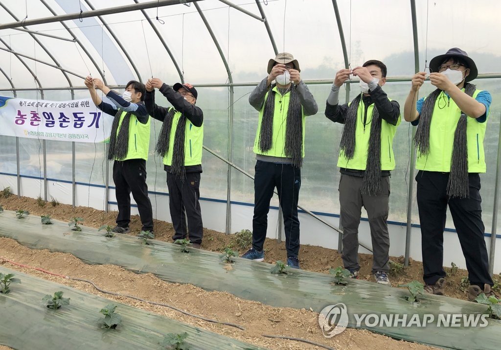
[[(120, 115), (120, 120), (118, 121), (117, 128), (117, 138), (120, 131), (120, 126), (124, 120), (127, 112), (123, 111)], [(129, 147), (127, 149), (127, 154), (123, 159), (117, 160), (127, 160), (127, 159), (144, 159), (148, 160), (148, 149), (150, 146), (150, 118), (148, 117), (148, 122), (146, 124), (141, 123), (137, 120), (134, 114), (130, 115), (129, 121)]]

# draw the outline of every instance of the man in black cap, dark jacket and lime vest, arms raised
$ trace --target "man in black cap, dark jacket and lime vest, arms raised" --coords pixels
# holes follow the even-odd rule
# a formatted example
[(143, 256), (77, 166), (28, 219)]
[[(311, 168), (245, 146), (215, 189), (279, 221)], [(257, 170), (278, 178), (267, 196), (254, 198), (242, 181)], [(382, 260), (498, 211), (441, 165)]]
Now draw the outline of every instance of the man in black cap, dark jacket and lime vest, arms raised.
[[(163, 122), (158, 135), (155, 153), (163, 157), (167, 172), (169, 210), (174, 227), (174, 241), (186, 237), (193, 248), (200, 248), (203, 237), (200, 211), (200, 174), (202, 172), (203, 112), (195, 106), (198, 93), (188, 83), (173, 87), (158, 78), (149, 79), (144, 103), (150, 115)], [(172, 104), (161, 107), (155, 104), (157, 88)]]

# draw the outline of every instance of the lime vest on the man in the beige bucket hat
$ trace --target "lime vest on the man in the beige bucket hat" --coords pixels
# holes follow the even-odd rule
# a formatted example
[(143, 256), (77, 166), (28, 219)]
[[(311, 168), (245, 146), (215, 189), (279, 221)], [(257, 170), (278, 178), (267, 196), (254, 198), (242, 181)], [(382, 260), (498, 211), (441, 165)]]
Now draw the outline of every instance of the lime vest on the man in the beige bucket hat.
[[(287, 125), (287, 111), (289, 110), (289, 98), (291, 92), (287, 92), (284, 96), (280, 94), (277, 86), (273, 88), (275, 91), (275, 109), (273, 115), (273, 135), (272, 135), (272, 148), (267, 151), (262, 151), (259, 147), (259, 135), (261, 133), (261, 123), (263, 121), (263, 114), (265, 112), (266, 102), (263, 104), (261, 111), (259, 112), (259, 122), (258, 131), (256, 133), (256, 140), (254, 141), (254, 153), (269, 155), (274, 157), (287, 158), (285, 154), (285, 139), (286, 139), (286, 125)], [(265, 95), (265, 101), (268, 98), (267, 92)], [(305, 156), (305, 114), (303, 112), (303, 107), (301, 107), (301, 120), (303, 122), (303, 145), (302, 145), (302, 156)]]

